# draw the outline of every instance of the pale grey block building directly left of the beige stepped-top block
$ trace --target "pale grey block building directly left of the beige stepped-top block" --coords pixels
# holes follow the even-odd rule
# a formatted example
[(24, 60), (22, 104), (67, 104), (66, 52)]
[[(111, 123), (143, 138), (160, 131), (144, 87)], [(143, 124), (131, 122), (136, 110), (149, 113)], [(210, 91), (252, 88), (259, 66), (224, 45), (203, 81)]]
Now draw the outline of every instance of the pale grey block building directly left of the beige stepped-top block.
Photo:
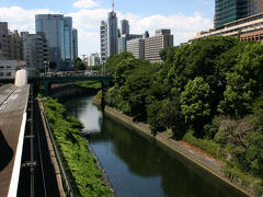
[(127, 51), (132, 53), (135, 58), (145, 59), (145, 39), (135, 38), (127, 40)]

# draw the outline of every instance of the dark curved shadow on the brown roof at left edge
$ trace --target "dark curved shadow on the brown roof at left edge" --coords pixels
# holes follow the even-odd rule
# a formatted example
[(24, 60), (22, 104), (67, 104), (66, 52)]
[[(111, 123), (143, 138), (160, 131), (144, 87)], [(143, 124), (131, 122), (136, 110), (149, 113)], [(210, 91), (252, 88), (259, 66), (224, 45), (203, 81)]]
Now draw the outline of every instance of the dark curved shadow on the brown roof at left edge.
[(13, 158), (13, 150), (9, 147), (0, 129), (0, 172), (9, 164)]

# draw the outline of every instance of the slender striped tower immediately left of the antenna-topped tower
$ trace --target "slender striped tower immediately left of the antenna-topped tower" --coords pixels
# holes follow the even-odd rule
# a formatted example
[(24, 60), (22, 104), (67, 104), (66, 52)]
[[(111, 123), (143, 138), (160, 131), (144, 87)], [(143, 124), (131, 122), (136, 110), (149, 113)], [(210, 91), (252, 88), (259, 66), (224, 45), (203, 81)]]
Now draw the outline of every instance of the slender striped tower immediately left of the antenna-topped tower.
[(101, 61), (106, 62), (106, 59), (107, 59), (107, 23), (106, 21), (101, 22), (100, 34), (101, 34)]

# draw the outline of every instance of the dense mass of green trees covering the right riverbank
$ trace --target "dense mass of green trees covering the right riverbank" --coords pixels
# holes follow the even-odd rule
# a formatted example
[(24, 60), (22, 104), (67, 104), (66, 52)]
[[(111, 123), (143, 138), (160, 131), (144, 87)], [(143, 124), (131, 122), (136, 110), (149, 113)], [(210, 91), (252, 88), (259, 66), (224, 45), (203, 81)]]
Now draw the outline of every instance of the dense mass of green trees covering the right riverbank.
[(128, 53), (111, 57), (107, 105), (148, 123), (153, 134), (171, 130), (214, 155), (220, 149), (228, 166), (262, 178), (263, 45), (216, 36), (160, 56), (162, 63)]

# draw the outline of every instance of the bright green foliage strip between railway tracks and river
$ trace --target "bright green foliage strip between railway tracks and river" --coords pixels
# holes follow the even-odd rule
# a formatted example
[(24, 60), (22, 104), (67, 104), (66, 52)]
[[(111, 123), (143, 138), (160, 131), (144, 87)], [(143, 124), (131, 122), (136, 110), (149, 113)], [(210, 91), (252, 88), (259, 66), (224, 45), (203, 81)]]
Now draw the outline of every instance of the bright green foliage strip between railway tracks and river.
[(111, 196), (85, 139), (80, 136), (82, 124), (67, 116), (64, 105), (53, 99), (45, 102), (45, 112), (77, 196)]

